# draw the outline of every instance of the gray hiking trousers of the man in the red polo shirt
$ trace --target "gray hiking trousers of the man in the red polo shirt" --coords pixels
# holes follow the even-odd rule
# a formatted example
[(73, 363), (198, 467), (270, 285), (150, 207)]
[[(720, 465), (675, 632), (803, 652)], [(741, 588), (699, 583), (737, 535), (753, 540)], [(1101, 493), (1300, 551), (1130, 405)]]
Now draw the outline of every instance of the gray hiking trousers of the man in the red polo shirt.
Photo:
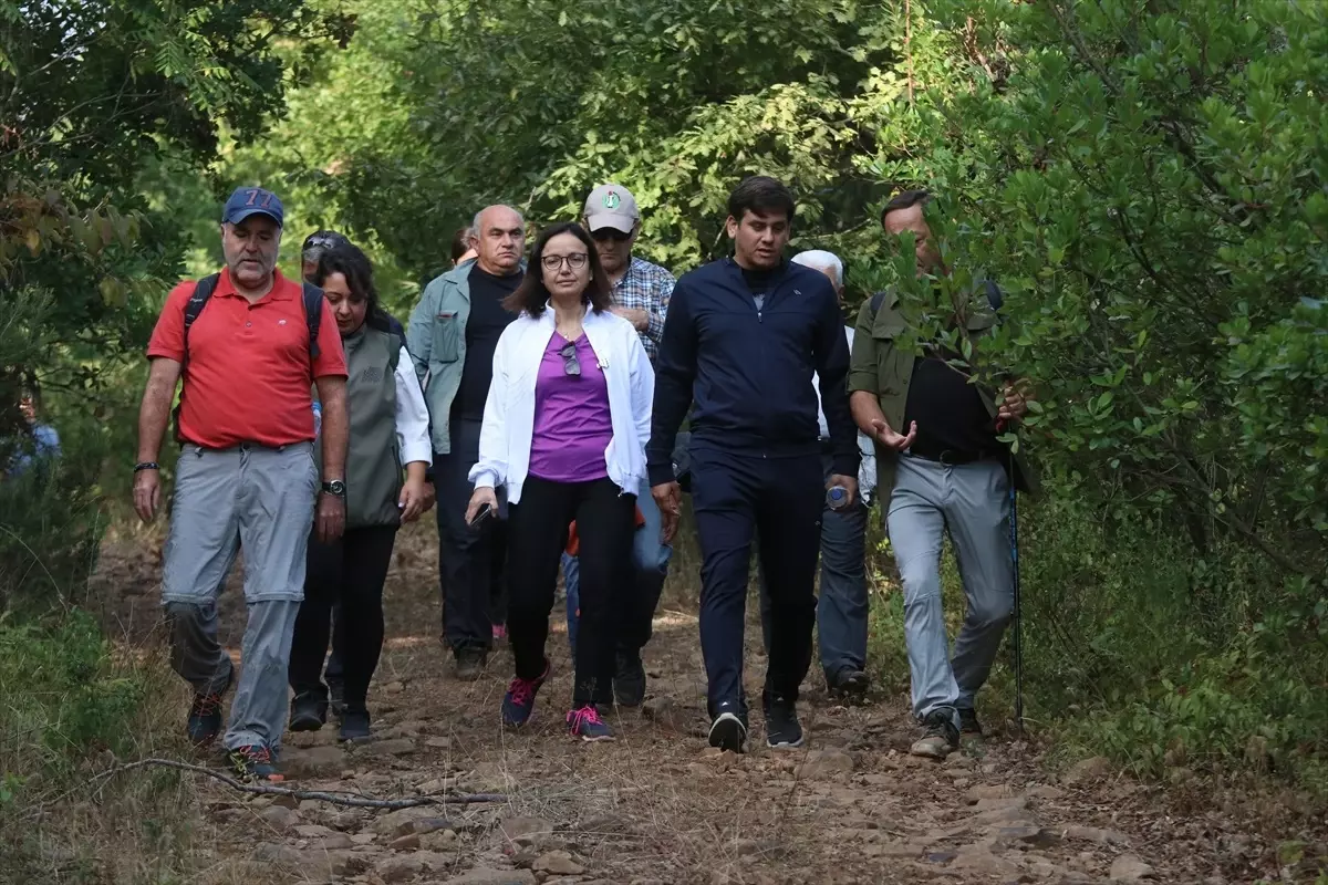
[(234, 675), (216, 638), (216, 596), (235, 555), (244, 549), (248, 625), (223, 740), (227, 748), (280, 748), (291, 636), (304, 598), (304, 553), (317, 484), (311, 443), (186, 446), (177, 463), (162, 604), (171, 666), (198, 694), (224, 691)]

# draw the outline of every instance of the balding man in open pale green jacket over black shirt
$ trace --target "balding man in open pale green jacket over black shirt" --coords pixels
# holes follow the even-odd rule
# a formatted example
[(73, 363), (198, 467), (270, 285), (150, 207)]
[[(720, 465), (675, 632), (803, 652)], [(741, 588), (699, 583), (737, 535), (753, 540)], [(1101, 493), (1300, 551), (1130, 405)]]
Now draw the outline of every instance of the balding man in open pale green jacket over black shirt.
[(474, 261), (462, 261), (425, 287), (410, 314), (406, 349), (424, 383), (438, 494), (438, 577), (442, 642), (459, 679), (477, 679), (489, 661), (506, 560), (505, 523), (466, 524), (469, 475), (479, 458), (479, 426), (493, 381), (498, 337), (517, 314), (503, 299), (525, 273), (526, 223), (510, 206), (481, 210), (471, 224)]

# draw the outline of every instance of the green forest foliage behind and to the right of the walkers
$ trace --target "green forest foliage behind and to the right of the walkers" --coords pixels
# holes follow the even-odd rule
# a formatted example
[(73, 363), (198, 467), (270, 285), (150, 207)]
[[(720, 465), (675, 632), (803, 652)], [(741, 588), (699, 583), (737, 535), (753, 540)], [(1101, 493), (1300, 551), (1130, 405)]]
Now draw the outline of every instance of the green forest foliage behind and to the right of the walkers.
[(1328, 12), (1286, 0), (0, 3), (0, 439), (37, 379), (73, 441), (41, 480), (64, 491), (3, 507), (0, 590), (68, 589), (32, 567), (70, 561), (61, 539), (86, 569), (149, 325), (218, 257), (230, 186), (286, 198), (288, 263), (315, 227), (363, 241), (404, 310), (483, 204), (539, 224), (612, 179), (684, 271), (725, 252), (732, 186), (773, 174), (854, 306), (898, 283), (927, 328), (946, 300), (878, 223), (924, 186), (944, 296), (1007, 295), (980, 373), (1038, 397), (1040, 719), (1141, 768), (1304, 784), (1328, 734), (1325, 90)]

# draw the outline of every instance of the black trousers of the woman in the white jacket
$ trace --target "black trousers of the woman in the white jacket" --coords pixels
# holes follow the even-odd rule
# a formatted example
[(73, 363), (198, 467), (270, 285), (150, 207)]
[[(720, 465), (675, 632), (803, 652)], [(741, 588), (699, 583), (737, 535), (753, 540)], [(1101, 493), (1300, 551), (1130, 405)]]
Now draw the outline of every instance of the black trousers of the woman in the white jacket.
[(548, 613), (567, 527), (580, 539), (580, 626), (572, 706), (612, 703), (614, 663), (623, 604), (632, 592), (636, 495), (611, 479), (555, 483), (529, 476), (511, 507), (507, 561), (507, 638), (517, 675), (544, 671)]

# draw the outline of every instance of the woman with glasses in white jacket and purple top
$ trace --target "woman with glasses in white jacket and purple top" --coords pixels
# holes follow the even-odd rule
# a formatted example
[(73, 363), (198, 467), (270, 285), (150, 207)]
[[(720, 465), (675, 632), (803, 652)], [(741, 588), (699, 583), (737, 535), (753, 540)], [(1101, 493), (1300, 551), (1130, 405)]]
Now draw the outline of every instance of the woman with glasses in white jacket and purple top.
[(535, 240), (506, 303), (521, 316), (494, 352), (466, 520), (510, 507), (507, 638), (517, 674), (502, 702), (522, 726), (548, 677), (544, 642), (567, 529), (580, 541), (580, 628), (567, 726), (612, 739), (596, 703), (612, 703), (619, 594), (629, 592), (636, 490), (645, 476), (655, 374), (632, 324), (610, 312), (608, 279), (579, 224)]

